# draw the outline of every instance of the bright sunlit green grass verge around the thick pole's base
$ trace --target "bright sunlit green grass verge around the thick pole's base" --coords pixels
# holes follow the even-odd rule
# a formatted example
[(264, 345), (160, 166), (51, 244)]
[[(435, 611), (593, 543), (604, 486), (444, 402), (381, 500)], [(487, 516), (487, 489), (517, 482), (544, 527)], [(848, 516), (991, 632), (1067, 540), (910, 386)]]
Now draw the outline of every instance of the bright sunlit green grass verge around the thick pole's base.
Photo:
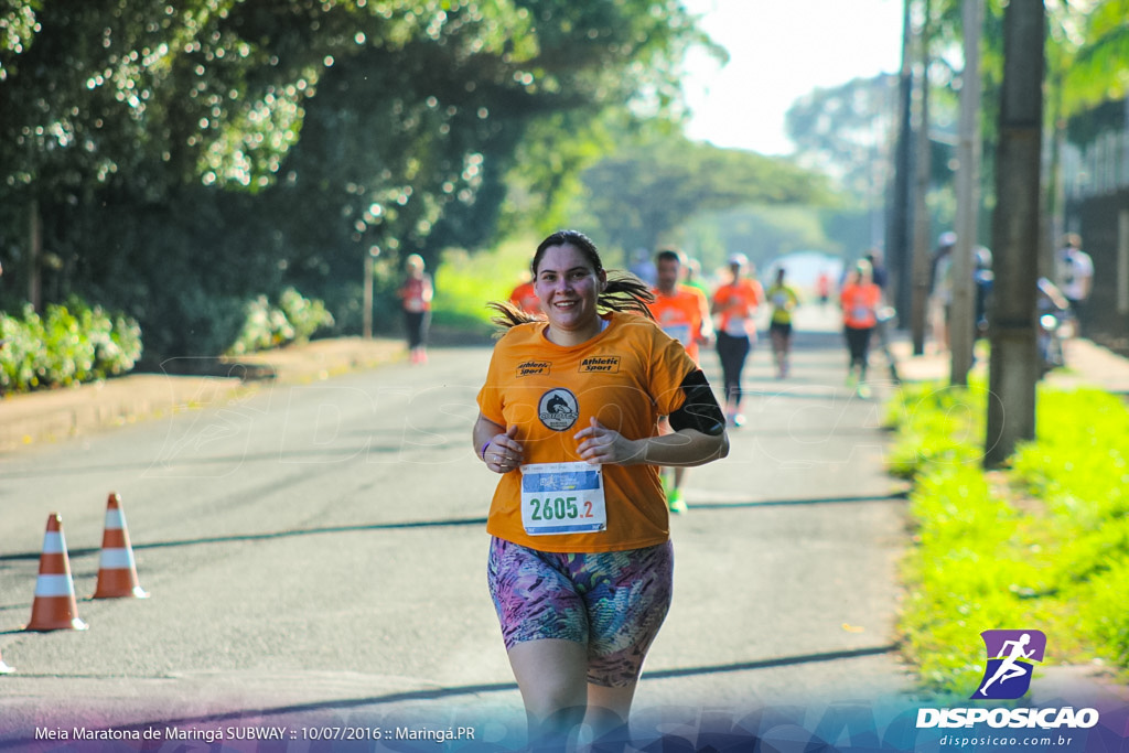
[(1036, 440), (986, 473), (984, 393), (916, 385), (887, 411), (891, 471), (913, 480), (900, 630), (922, 690), (966, 697), (979, 633), (997, 628), (1042, 630), (1049, 662), (1129, 676), (1129, 410), (1041, 388)]

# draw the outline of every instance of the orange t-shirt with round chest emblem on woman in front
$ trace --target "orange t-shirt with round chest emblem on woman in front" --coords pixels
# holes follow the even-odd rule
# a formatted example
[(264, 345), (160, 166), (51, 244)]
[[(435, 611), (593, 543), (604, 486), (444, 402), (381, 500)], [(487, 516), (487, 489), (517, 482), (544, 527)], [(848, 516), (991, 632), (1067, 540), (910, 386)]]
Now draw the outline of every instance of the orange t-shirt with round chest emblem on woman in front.
[[(682, 380), (698, 368), (685, 349), (645, 317), (613, 313), (604, 318), (607, 327), (579, 345), (550, 342), (544, 322), (511, 327), (495, 345), (479, 409), (499, 426), (518, 427), (524, 463), (579, 462), (574, 435), (592, 417), (628, 439), (657, 436), (658, 417), (685, 400)], [(517, 470), (498, 482), (487, 532), (545, 552), (613, 552), (669, 539), (658, 466), (592, 467), (603, 471), (605, 529), (527, 533)]]

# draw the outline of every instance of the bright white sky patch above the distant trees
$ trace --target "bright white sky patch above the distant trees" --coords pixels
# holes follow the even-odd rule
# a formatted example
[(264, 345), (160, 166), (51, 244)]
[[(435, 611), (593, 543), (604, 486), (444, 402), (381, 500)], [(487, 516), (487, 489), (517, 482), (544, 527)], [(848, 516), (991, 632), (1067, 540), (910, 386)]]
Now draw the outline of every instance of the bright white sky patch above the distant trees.
[(785, 113), (815, 88), (901, 67), (902, 0), (684, 0), (715, 42), (686, 61), (688, 135), (764, 155), (793, 151)]

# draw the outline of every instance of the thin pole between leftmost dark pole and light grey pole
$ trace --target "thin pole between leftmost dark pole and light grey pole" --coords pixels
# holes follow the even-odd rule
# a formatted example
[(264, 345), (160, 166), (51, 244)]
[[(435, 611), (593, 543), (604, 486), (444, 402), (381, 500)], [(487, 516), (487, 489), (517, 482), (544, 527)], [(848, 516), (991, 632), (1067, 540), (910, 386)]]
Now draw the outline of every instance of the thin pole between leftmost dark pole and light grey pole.
[(925, 330), (929, 304), (929, 281), (933, 264), (929, 254), (929, 173), (933, 167), (929, 141), (929, 0), (925, 0), (921, 33), (918, 37), (921, 53), (921, 90), (918, 107), (917, 169), (913, 187), (913, 300), (910, 306), (910, 329), (913, 354), (925, 352)]

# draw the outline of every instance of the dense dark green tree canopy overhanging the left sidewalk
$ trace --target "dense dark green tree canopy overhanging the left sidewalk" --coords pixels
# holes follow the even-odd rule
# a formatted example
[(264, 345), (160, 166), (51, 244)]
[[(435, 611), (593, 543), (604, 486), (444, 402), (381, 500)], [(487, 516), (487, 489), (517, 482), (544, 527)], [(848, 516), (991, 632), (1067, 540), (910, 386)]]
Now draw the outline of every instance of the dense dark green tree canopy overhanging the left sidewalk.
[(706, 42), (676, 0), (0, 0), (0, 29), (9, 279), (42, 221), (50, 297), (208, 352), (252, 295), (349, 327), (370, 246), (474, 247), (515, 184), (551, 207), (586, 123), (676, 112)]

